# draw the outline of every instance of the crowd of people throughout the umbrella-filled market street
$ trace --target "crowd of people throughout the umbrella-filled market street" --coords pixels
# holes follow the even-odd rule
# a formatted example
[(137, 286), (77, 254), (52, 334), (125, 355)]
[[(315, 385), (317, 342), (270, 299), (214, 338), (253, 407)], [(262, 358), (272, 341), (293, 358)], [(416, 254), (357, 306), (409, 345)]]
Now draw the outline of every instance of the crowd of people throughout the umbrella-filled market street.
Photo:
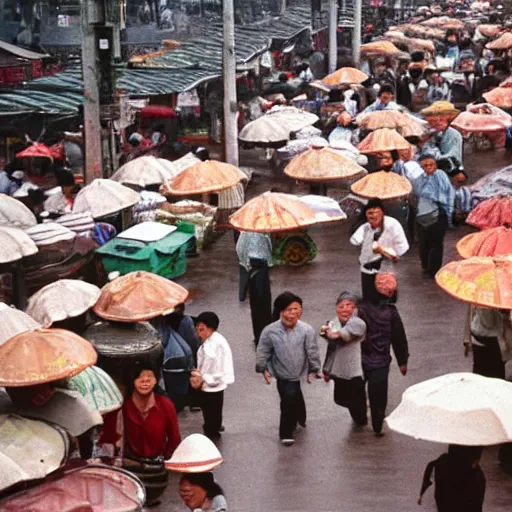
[[(473, 12), (476, 23), (461, 21), (468, 17), (467, 12), (469, 18)], [(407, 326), (399, 312), (397, 265), (417, 241), (423, 278), (435, 279), (443, 266), (447, 231), (465, 222), (483, 199), (469, 186), (471, 176), (464, 167), (468, 134), (474, 149), (512, 147), (512, 117), (507, 112), (512, 110), (512, 97), (510, 104), (505, 101), (512, 91), (507, 87), (512, 43), (505, 48), (492, 43), (501, 30), (510, 28), (510, 22), (501, 26), (502, 18), (498, 6), (471, 11), (462, 0), (422, 7), (406, 25), (391, 27), (385, 23), (388, 26), (381, 27), (380, 33), (366, 27), (365, 43), (370, 46), (362, 53), (361, 69), (346, 52), (339, 62), (343, 73), (315, 80), (309, 63), (302, 62), (295, 69), (277, 70), (275, 80), (269, 81), (254, 100), (260, 113), (293, 106), (320, 119), (315, 126), (297, 131), (281, 147), (267, 148), (274, 172), (312, 148), (331, 148), (364, 167), (364, 183), (352, 187), (356, 196), (361, 187), (374, 190), (384, 183), (400, 190), (395, 195), (372, 195), (365, 189), (359, 198), (342, 201), (356, 203), (350, 243), (360, 250), (361, 286), (339, 290), (337, 298), (333, 297), (331, 320), (321, 326), (301, 320), (304, 304), (299, 290), (290, 286), (272, 300), (270, 274), (277, 238), (248, 231), (235, 234), (238, 298), (244, 301), (248, 297), (250, 303), (255, 370), (266, 384), (276, 383), (280, 399), (278, 441), (282, 445), (294, 445), (297, 429), (307, 427), (301, 388), (304, 379), (308, 384), (315, 380), (332, 382), (334, 403), (348, 410), (356, 428), (363, 429), (370, 422), (376, 438), (386, 434), (392, 361), (394, 358), (405, 376), (410, 357)], [(425, 23), (430, 20), (434, 21)], [(440, 27), (444, 27), (441, 36)], [(391, 49), (386, 46), (389, 44)], [(477, 129), (462, 124), (461, 116), (466, 113), (475, 116), (470, 124), (477, 123)], [(492, 129), (487, 129), (491, 124)], [(71, 135), (67, 138), (74, 140)], [(135, 131), (125, 141), (123, 160), (136, 161), (157, 152), (165, 143), (163, 127), (152, 133)], [(209, 159), (204, 148), (195, 148), (193, 153), (194, 162)], [(0, 193), (20, 198), (39, 221), (71, 213), (82, 185), (66, 165), (69, 162), (56, 160), (61, 163), (51, 172), (58, 186), (49, 196), (42, 193), (41, 181), (32, 182), (16, 162), (1, 171)], [(496, 195), (496, 189), (491, 190), (491, 195)], [(311, 192), (327, 196), (327, 185), (315, 182)], [(223, 198), (231, 213), (244, 202), (243, 184)], [(98, 245), (122, 230), (119, 219), (84, 222), (87, 236)], [(115, 283), (116, 276), (111, 277)], [(201, 411), (197, 430), (213, 442), (226, 432), (229, 442), (223, 409), (225, 400), (230, 399), (230, 388), (236, 390), (237, 383), (230, 349), (234, 340), (222, 334), (223, 323), (228, 321), (214, 311), (189, 315), (184, 303), (152, 320), (151, 329), (158, 331), (163, 356), (157, 360), (140, 358), (124, 372), (122, 382), (117, 382), (123, 391), (122, 406), (103, 414), (101, 421), (84, 420), (87, 428), (81, 428), (76, 436), (79, 455), (121, 461), (124, 469), (152, 489), (148, 503), (154, 504), (167, 485), (165, 461), (181, 443), (181, 411)], [(509, 316), (500, 309), (471, 306), (468, 346), (474, 373), (505, 379), (508, 352), (501, 336), (507, 322)], [(77, 328), (55, 323), (53, 327), (83, 333), (83, 325)], [(28, 407), (38, 401), (45, 403), (55, 389), (45, 383), (36, 394), (16, 388), (8, 388), (7, 393), (14, 404)], [(450, 445), (447, 454), (427, 467), (421, 494), (435, 471), (440, 512), (482, 511), (485, 478), (478, 463), (482, 449)], [(510, 447), (504, 446), (500, 457), (510, 465)], [(184, 475), (180, 495), (196, 512), (227, 510), (223, 491), (208, 471)]]

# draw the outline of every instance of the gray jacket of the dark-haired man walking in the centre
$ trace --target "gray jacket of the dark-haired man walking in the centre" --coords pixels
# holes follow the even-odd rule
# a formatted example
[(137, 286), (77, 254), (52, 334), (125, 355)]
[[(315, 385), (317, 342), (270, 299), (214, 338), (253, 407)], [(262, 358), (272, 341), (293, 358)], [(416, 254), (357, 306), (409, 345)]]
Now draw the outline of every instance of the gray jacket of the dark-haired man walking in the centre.
[(297, 381), (319, 372), (320, 366), (315, 331), (309, 324), (299, 320), (289, 330), (278, 320), (263, 329), (256, 352), (258, 373), (267, 370), (276, 379)]

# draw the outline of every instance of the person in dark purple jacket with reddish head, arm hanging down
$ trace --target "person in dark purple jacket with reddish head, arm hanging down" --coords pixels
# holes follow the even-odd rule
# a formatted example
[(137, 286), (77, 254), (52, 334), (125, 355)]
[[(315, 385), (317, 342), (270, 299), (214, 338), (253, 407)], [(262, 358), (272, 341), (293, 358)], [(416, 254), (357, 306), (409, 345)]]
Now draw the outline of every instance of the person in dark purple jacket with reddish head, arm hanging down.
[(407, 374), (409, 348), (400, 314), (390, 298), (396, 291), (396, 278), (390, 273), (377, 274), (375, 288), (380, 294), (372, 302), (359, 306), (359, 317), (366, 323), (366, 340), (362, 343), (364, 378), (368, 382), (368, 398), (372, 427), (380, 437), (388, 403), (388, 377), (391, 347), (400, 372)]

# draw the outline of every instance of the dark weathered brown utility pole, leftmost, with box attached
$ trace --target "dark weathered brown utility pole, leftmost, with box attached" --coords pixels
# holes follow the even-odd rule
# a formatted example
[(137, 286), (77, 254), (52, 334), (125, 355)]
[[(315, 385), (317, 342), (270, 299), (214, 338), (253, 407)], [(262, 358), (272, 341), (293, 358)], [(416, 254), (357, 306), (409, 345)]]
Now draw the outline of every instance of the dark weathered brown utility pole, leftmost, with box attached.
[(82, 75), (84, 80), (84, 155), (86, 184), (101, 178), (102, 143), (100, 122), (100, 89), (97, 69), (98, 47), (96, 24), (104, 22), (101, 1), (84, 0), (82, 20)]

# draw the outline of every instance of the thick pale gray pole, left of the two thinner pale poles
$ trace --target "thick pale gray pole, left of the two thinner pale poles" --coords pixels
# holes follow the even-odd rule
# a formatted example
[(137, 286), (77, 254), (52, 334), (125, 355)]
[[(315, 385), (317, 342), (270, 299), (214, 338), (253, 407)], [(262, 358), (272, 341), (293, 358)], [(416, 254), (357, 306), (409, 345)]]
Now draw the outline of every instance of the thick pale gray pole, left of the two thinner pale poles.
[(223, 0), (224, 47), (224, 154), (226, 162), (238, 167), (238, 128), (236, 124), (236, 53), (233, 0)]

